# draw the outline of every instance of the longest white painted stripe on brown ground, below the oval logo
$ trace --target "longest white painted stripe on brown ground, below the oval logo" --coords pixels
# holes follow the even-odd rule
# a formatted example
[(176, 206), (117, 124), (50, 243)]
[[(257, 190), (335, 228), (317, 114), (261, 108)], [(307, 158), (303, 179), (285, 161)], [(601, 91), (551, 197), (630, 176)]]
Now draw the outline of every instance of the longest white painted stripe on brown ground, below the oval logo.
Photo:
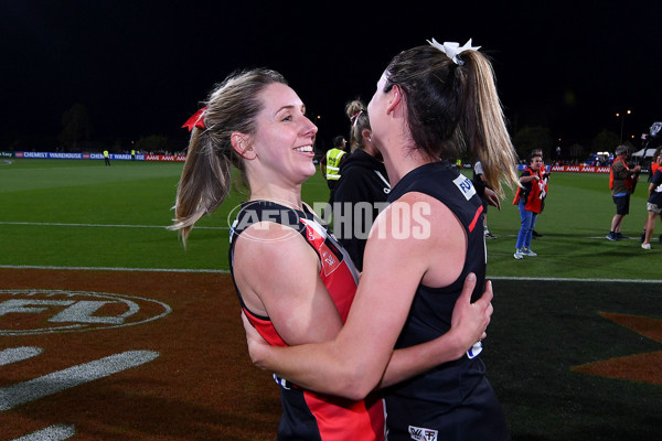
[(127, 351), (0, 388), (0, 411), (140, 366), (158, 356), (152, 351)]

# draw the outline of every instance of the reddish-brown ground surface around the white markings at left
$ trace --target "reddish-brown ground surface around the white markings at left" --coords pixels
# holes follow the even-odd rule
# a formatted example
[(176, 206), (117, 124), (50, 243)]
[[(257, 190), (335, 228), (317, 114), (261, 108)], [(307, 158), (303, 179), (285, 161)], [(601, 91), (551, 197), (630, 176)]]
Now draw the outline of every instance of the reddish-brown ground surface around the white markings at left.
[[(127, 351), (159, 353), (140, 366), (0, 410), (0, 440), (55, 424), (73, 426), (77, 441), (276, 439), (278, 389), (270, 374), (250, 364), (228, 275), (0, 269), (0, 289), (114, 293), (172, 309), (130, 326), (0, 334), (0, 351), (43, 349), (0, 365), (0, 401), (3, 388), (56, 370)], [(0, 330), (13, 325), (12, 318), (23, 319), (21, 326), (35, 321), (7, 313)]]

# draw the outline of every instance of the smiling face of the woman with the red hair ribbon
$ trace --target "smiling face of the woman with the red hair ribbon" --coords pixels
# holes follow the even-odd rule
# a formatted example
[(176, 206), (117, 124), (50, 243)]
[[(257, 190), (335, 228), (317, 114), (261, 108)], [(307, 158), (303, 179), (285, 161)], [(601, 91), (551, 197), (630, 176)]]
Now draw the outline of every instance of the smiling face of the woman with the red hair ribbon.
[(260, 95), (263, 108), (249, 141), (254, 157), (247, 166), (264, 182), (300, 184), (316, 173), (312, 158), (318, 128), (289, 86), (274, 83)]

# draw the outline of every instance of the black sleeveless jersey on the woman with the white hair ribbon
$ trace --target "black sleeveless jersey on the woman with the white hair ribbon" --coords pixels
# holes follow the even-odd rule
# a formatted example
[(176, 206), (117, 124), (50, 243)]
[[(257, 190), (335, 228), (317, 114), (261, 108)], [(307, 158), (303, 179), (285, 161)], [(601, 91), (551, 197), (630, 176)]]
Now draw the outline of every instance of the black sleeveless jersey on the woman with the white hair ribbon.
[[(467, 257), (460, 277), (450, 286), (418, 286), (396, 348), (445, 334), (450, 330), (455, 302), (467, 275), (477, 276), (473, 301), (481, 295), (485, 279), (482, 202), (471, 180), (447, 163), (434, 162), (407, 173), (392, 190), (389, 202), (410, 192), (433, 196), (452, 211), (467, 234)], [(477, 353), (480, 349), (474, 346)], [(471, 351), (384, 394), (389, 441), (510, 439), (496, 396), (484, 377), (484, 365)]]

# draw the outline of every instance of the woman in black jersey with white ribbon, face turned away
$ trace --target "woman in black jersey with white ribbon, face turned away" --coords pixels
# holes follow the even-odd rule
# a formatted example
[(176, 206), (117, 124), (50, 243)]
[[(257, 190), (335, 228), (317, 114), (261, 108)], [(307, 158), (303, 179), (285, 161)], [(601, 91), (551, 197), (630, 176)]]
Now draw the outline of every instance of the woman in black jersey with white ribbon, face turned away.
[[(491, 309), (491, 295), (478, 299), (490, 288), (481, 200), (452, 163), (480, 160), (488, 185), (502, 194), (502, 184), (517, 182), (516, 155), (488, 58), (471, 40), (428, 43), (391, 61), (367, 106), (391, 205), (367, 240), (346, 323), (331, 342), (287, 348), (249, 332), (249, 352), (258, 366), (307, 388), (359, 399), (384, 384), (394, 348), (445, 344), (449, 362), (383, 389), (388, 440), (509, 440), (479, 356), (487, 333), (473, 341), (457, 333), (466, 299)], [(472, 295), (462, 291), (470, 275)]]

